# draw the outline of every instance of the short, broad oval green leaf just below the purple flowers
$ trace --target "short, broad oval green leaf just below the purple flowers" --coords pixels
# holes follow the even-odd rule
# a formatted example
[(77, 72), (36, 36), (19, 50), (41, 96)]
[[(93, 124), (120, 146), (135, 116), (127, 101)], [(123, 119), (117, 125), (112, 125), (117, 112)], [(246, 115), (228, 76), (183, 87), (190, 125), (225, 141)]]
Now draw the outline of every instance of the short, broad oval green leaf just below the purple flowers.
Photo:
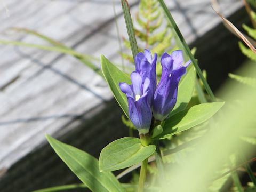
[(100, 170), (115, 171), (142, 162), (156, 150), (155, 145), (142, 146), (140, 139), (125, 137), (111, 142), (100, 153)]

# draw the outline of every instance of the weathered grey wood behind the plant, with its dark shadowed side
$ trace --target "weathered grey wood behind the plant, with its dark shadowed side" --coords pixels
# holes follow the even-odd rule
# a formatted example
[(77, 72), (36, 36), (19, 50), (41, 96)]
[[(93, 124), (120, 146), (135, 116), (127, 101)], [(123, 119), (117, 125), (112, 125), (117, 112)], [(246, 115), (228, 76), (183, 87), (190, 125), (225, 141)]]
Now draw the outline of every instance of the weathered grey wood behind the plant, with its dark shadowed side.
[[(189, 43), (203, 38), (221, 21), (209, 0), (166, 2)], [(129, 3), (134, 15), (138, 1)], [(0, 39), (49, 45), (34, 36), (8, 30), (30, 28), (79, 52), (95, 57), (104, 54), (121, 63), (112, 1), (8, 0), (5, 4), (10, 17), (0, 6)], [(238, 0), (221, 4), (225, 15), (241, 6)], [(119, 1), (116, 12), (120, 33), (127, 36)], [(50, 147), (42, 147), (45, 133), (61, 137), (94, 156), (108, 142), (125, 134), (121, 110), (111, 100), (107, 84), (74, 57), (12, 45), (0, 45), (0, 55), (1, 191), (30, 191), (74, 182), (71, 173), (66, 180), (60, 178), (68, 169)], [(53, 166), (55, 169), (42, 172)], [(4, 174), (5, 170), (8, 171)], [(46, 181), (48, 178), (55, 180)], [(30, 179), (34, 179), (33, 183), (28, 183)], [(27, 186), (21, 189), (22, 185)]]

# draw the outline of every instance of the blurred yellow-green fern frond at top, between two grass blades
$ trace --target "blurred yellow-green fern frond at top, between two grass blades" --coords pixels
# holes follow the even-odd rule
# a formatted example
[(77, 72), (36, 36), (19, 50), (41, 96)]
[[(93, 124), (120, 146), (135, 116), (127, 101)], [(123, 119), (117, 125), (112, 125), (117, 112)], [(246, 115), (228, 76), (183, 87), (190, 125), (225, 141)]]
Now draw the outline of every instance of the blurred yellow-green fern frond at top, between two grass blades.
[[(170, 51), (172, 45), (172, 33), (170, 26), (163, 22), (163, 12), (159, 3), (156, 0), (141, 0), (139, 4), (139, 11), (135, 17), (135, 36), (140, 40), (141, 46), (139, 51), (144, 48), (150, 49), (158, 55), (165, 51)], [(131, 49), (131, 45), (127, 39), (124, 39), (124, 45), (127, 49)], [(142, 48), (143, 47), (143, 48)], [(122, 53), (123, 58), (133, 62), (131, 55)], [(159, 70), (159, 65), (157, 65)]]

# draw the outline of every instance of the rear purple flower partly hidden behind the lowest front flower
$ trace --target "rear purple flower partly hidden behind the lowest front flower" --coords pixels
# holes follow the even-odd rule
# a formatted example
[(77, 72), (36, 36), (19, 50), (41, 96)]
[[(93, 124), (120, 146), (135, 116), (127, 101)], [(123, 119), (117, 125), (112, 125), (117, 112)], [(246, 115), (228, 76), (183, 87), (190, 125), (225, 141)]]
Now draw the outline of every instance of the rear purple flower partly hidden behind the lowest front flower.
[(141, 78), (142, 84), (145, 82), (146, 78), (149, 78), (151, 90), (151, 95), (149, 99), (153, 100), (153, 95), (156, 90), (156, 59), (157, 54), (154, 53), (154, 58), (149, 50), (145, 49), (144, 53), (139, 52), (135, 57), (135, 71), (137, 71)]

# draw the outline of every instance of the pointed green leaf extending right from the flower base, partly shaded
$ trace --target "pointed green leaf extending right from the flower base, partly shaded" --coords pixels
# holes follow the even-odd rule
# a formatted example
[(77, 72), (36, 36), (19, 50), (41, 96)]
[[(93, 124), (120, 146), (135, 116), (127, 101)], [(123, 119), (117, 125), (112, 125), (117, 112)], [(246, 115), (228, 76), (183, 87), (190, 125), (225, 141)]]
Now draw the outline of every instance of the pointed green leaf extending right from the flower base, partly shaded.
[(164, 139), (199, 125), (210, 119), (223, 105), (224, 102), (203, 103), (182, 110), (166, 120), (163, 133), (157, 138)]

